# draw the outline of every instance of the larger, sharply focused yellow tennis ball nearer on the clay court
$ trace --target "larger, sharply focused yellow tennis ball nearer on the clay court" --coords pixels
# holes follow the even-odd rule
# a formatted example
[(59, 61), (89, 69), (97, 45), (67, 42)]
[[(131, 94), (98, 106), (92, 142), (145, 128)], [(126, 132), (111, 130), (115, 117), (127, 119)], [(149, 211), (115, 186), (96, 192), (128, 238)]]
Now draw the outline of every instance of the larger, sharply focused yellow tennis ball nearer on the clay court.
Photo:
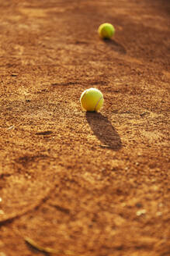
[(98, 112), (102, 108), (104, 98), (102, 92), (95, 88), (83, 91), (80, 102), (82, 109), (88, 112)]

